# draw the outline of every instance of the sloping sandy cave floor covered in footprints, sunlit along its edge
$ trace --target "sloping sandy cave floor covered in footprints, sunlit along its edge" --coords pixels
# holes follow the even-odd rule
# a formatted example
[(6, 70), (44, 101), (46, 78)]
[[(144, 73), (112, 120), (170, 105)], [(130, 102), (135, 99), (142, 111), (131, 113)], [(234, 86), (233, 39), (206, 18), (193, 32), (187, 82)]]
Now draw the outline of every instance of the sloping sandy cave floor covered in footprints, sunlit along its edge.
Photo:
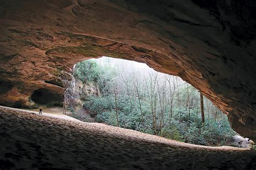
[(256, 151), (208, 147), (0, 107), (0, 169), (255, 169)]

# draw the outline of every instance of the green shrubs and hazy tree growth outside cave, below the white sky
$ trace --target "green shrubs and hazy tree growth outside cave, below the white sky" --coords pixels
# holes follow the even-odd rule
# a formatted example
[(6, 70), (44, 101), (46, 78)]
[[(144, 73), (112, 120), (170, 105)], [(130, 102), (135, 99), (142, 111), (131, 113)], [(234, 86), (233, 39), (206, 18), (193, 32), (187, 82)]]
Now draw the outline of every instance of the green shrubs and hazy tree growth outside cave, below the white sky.
[[(177, 82), (172, 101), (171, 117), (170, 98), (173, 92), (170, 93), (168, 91), (170, 88), (163, 85), (164, 83), (160, 84), (164, 82), (166, 77), (154, 78), (153, 76), (156, 74), (151, 74), (144, 77), (145, 81), (142, 79), (142, 75), (138, 75), (143, 73), (136, 72), (136, 75), (132, 75), (126, 72), (127, 69), (118, 70), (111, 66), (100, 66), (91, 60), (77, 64), (75, 75), (84, 83), (87, 81), (96, 82), (102, 94), (101, 96), (89, 96), (84, 103), (84, 108), (90, 112), (92, 117), (96, 118), (97, 122), (117, 126), (117, 109), (118, 123), (122, 128), (149, 134), (157, 133), (165, 138), (187, 143), (215, 146), (224, 144), (227, 139), (235, 135), (228, 124), (227, 117), (215, 109), (207, 99), (204, 100), (207, 104), (205, 123), (201, 123), (199, 93), (192, 86), (188, 86), (188, 84), (184, 86)], [(135, 76), (137, 79), (134, 78)], [(151, 79), (152, 77), (153, 79)], [(149, 86), (152, 81), (158, 82), (155, 86)], [(138, 91), (134, 88), (137, 83)], [(146, 87), (151, 89), (146, 89)], [(153, 87), (155, 88), (152, 89)], [(173, 88), (171, 87), (171, 89)], [(117, 108), (115, 93), (117, 95)], [(163, 94), (165, 98), (161, 96)], [(191, 100), (190, 109), (188, 109), (187, 102), (188, 94)], [(155, 105), (152, 104), (152, 101), (156, 101)], [(155, 115), (152, 112), (152, 105), (156, 107)], [(143, 119), (140, 107), (143, 112)], [(162, 110), (163, 115), (161, 115)], [(73, 116), (79, 118), (79, 115)], [(156, 129), (153, 126), (154, 118), (156, 119)], [(86, 118), (82, 118), (82, 120), (86, 121)]]

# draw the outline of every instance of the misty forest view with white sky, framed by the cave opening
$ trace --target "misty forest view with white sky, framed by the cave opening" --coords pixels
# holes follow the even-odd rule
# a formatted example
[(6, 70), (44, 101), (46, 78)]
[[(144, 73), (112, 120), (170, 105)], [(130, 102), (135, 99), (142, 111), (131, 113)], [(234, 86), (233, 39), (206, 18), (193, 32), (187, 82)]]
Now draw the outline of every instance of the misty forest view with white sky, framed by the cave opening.
[[(208, 146), (225, 145), (236, 134), (200, 91), (144, 63), (103, 57), (77, 63), (72, 75), (64, 103), (81, 121)], [(77, 111), (78, 103), (83, 112)]]

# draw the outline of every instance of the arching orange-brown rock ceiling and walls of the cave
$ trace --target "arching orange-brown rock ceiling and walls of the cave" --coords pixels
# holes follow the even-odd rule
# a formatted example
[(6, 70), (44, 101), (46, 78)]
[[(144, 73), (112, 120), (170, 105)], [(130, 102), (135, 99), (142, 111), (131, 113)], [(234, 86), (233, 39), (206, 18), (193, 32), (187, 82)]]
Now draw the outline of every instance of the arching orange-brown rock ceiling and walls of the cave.
[(256, 140), (253, 1), (0, 2), (0, 103), (32, 107), (61, 70), (112, 56), (180, 76)]

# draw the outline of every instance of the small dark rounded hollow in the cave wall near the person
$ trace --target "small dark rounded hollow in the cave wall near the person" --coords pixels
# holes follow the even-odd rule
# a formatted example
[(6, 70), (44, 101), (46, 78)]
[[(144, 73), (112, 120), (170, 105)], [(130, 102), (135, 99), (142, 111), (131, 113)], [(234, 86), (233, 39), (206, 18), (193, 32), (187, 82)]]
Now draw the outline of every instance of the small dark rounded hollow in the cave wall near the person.
[(62, 103), (62, 95), (56, 91), (42, 88), (33, 92), (31, 100), (38, 105), (46, 105), (46, 107), (52, 107)]

